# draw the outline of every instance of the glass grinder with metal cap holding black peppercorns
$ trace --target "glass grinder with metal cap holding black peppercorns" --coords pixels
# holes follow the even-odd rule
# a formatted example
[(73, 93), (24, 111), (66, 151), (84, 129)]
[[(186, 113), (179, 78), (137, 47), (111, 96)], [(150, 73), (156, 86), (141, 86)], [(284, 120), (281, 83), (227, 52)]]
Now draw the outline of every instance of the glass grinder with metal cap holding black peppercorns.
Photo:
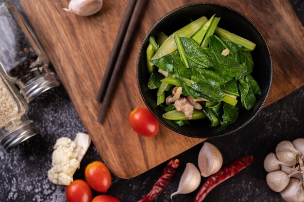
[(0, 2), (0, 70), (29, 103), (59, 85), (49, 59), (15, 5)]

